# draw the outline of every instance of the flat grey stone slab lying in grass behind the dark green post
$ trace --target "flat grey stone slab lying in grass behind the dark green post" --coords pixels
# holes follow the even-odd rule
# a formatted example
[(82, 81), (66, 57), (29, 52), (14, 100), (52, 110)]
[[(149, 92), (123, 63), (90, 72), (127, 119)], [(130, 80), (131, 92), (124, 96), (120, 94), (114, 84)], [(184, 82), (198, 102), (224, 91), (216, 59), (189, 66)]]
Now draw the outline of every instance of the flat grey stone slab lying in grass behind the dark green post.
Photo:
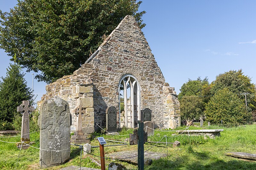
[[(138, 151), (121, 151), (107, 154), (105, 157), (113, 158), (113, 159), (120, 159), (122, 161), (131, 162), (133, 165), (138, 165)], [(135, 157), (132, 157), (135, 156)], [(160, 159), (162, 157), (166, 157), (165, 153), (159, 152), (145, 152), (144, 153), (144, 165), (151, 165), (152, 159)], [(132, 157), (132, 158), (129, 158)], [(124, 159), (127, 158), (127, 159)]]

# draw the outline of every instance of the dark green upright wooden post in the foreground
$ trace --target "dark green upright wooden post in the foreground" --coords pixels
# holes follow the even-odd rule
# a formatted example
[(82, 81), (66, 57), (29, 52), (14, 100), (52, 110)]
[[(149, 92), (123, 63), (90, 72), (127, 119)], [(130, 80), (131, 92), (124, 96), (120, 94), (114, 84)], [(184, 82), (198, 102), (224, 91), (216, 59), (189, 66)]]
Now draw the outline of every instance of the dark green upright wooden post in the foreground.
[(142, 121), (139, 122), (139, 130), (138, 130), (138, 169), (144, 170), (144, 123)]

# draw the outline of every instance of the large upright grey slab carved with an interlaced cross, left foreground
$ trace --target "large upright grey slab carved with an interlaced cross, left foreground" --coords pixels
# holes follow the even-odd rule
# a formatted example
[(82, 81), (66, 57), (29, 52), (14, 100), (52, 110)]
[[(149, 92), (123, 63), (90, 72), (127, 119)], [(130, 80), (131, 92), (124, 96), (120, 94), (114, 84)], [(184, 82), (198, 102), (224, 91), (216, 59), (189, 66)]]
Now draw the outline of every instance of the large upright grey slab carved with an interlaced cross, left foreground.
[(71, 115), (68, 102), (60, 97), (46, 100), (40, 107), (40, 168), (58, 166), (70, 158)]

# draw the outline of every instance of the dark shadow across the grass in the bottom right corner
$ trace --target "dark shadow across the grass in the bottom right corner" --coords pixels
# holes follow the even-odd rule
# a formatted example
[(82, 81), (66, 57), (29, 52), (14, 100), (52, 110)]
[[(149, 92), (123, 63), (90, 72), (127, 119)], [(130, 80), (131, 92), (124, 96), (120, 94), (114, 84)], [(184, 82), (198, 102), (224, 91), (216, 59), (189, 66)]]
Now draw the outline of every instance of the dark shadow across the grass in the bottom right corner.
[[(208, 153), (191, 153), (196, 157), (196, 161), (189, 159), (191, 155), (180, 156), (176, 158), (166, 158), (154, 160), (151, 166), (145, 166), (147, 170), (167, 170), (167, 169), (198, 169), (198, 170), (220, 170), (220, 169), (256, 169), (256, 162), (247, 162), (239, 159), (224, 161), (218, 158), (210, 158)], [(205, 162), (205, 159), (208, 159)], [(212, 159), (212, 160), (211, 160)], [(202, 161), (204, 160), (204, 161)]]

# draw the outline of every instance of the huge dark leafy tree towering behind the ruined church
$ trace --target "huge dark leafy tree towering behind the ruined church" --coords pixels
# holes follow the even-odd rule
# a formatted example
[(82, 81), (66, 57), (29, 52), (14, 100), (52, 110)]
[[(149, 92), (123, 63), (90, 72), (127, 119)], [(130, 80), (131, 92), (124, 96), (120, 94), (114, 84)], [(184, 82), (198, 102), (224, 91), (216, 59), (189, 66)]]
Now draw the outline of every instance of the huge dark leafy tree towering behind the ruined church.
[(78, 69), (126, 15), (140, 28), (136, 0), (18, 0), (0, 11), (0, 48), (50, 83)]

